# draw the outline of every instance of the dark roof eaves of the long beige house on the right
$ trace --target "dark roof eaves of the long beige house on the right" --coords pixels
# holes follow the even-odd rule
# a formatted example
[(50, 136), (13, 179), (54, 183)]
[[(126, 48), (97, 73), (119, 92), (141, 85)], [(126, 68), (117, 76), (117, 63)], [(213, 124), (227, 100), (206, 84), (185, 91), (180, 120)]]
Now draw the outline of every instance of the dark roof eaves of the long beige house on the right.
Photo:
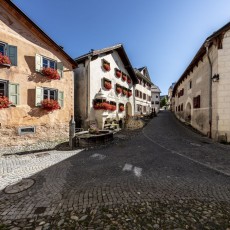
[(192, 59), (192, 61), (190, 62), (190, 64), (188, 65), (184, 73), (176, 82), (173, 88), (173, 96), (175, 96), (176, 89), (179, 86), (179, 84), (186, 78), (186, 76), (193, 70), (193, 68), (198, 64), (200, 60), (202, 60), (203, 56), (206, 54), (206, 45), (208, 45), (208, 47), (211, 47), (215, 43), (219, 48), (221, 48), (223, 35), (229, 29), (230, 29), (230, 22), (228, 22), (226, 25), (224, 25), (219, 30), (215, 31), (212, 35), (206, 38), (206, 40), (203, 42), (200, 49), (196, 53), (195, 57)]

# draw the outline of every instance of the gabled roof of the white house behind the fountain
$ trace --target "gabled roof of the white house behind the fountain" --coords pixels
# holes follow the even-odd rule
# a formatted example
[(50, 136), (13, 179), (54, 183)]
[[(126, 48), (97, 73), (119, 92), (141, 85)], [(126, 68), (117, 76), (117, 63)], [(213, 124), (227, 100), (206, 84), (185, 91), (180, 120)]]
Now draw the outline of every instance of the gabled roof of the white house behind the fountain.
[(128, 55), (126, 54), (125, 49), (124, 49), (122, 44), (117, 44), (117, 45), (110, 46), (110, 47), (103, 48), (103, 49), (99, 49), (99, 50), (91, 50), (89, 53), (75, 58), (75, 61), (79, 64), (79, 63), (85, 61), (90, 56), (93, 57), (93, 56), (97, 56), (97, 55), (104, 54), (104, 53), (110, 53), (114, 50), (116, 50), (118, 52), (119, 56), (121, 57), (121, 60), (123, 61), (124, 66), (127, 69), (129, 76), (131, 77), (133, 83), (137, 84), (138, 79), (136, 77), (134, 69), (131, 65), (131, 62), (129, 61)]

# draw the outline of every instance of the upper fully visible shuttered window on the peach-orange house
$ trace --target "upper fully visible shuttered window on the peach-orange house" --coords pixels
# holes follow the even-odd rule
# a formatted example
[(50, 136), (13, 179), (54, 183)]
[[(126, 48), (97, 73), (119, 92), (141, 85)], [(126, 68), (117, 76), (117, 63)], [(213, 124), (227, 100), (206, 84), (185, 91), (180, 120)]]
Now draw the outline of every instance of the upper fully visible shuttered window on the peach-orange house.
[(55, 60), (43, 57), (39, 54), (35, 56), (35, 70), (41, 72), (43, 68), (56, 69), (60, 77), (63, 76), (63, 64), (62, 62), (57, 62)]

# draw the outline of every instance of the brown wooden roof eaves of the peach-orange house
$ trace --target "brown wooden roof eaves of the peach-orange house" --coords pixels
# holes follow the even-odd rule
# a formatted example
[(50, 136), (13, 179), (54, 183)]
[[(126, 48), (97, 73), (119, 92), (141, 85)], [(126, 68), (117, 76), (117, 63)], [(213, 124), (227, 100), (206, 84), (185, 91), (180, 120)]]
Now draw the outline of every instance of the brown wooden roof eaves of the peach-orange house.
[(60, 53), (71, 65), (72, 68), (77, 67), (76, 62), (57, 44), (55, 43), (44, 31), (42, 31), (30, 18), (28, 18), (16, 5), (9, 0), (1, 0), (1, 6), (17, 21), (20, 21), (27, 27), (31, 33), (38, 36), (44, 42), (52, 46), (57, 52)]

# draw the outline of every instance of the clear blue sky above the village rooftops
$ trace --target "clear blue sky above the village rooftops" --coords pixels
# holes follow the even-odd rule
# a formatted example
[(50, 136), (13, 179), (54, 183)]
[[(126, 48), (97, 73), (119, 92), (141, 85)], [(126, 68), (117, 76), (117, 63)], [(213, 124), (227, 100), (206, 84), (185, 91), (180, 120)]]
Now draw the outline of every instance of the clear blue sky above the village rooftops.
[(122, 43), (168, 93), (204, 40), (230, 21), (230, 0), (13, 0), (76, 58)]

